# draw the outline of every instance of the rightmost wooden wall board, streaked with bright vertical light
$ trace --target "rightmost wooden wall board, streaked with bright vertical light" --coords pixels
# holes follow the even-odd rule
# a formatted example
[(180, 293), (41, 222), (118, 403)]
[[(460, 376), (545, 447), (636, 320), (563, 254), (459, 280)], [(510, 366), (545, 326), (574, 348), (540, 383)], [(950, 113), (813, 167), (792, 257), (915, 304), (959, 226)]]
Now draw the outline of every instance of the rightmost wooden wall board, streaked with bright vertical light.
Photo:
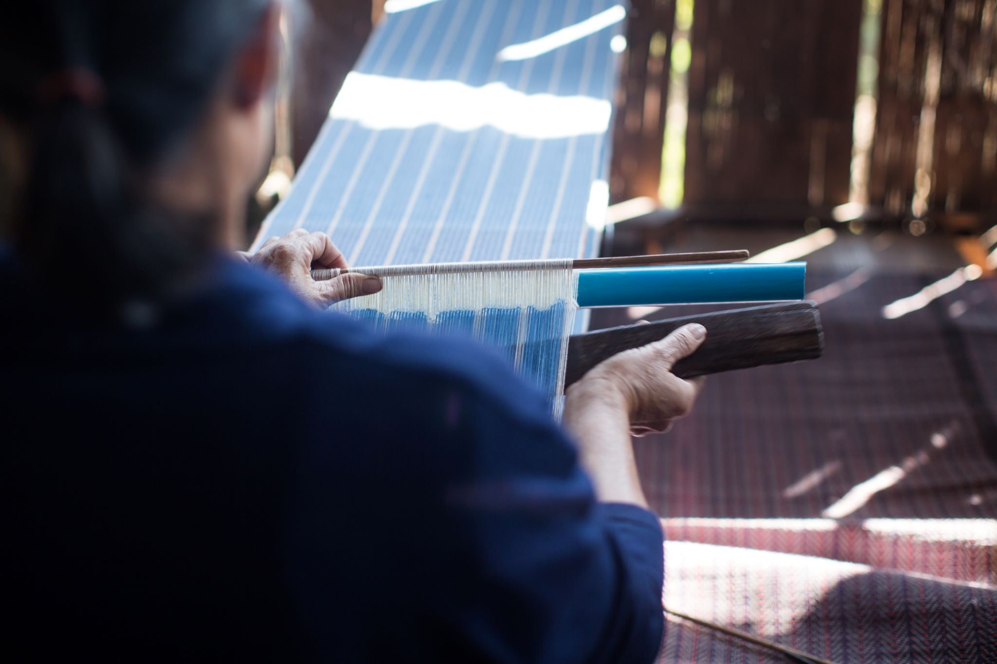
[(883, 0), (870, 202), (993, 208), (995, 159), (997, 2)]

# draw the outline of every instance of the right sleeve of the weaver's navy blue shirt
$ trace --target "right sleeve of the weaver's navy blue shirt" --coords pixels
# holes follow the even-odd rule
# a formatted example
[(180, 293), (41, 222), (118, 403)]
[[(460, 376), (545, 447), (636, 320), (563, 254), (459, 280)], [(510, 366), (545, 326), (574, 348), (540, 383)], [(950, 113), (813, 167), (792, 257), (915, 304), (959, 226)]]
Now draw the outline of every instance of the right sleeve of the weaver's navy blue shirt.
[(460, 580), (437, 605), (473, 651), (442, 658), (653, 661), (664, 630), (657, 517), (597, 503), (545, 410), (496, 394), (477, 401), (464, 423), (474, 463), (444, 497)]

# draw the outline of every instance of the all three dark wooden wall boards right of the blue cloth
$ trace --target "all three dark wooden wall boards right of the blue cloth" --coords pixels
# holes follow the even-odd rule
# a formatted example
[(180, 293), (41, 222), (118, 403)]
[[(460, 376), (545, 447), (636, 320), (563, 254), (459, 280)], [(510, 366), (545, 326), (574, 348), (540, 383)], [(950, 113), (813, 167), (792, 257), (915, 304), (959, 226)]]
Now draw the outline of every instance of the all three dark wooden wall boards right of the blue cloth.
[[(612, 193), (654, 196), (673, 0), (632, 0)], [(848, 201), (862, 0), (696, 0), (685, 203), (827, 211)], [(671, 40), (669, 40), (669, 56)], [(997, 205), (997, 2), (883, 0), (868, 203), (894, 215)], [(652, 102), (653, 101), (653, 102)], [(651, 103), (649, 103), (651, 102)]]

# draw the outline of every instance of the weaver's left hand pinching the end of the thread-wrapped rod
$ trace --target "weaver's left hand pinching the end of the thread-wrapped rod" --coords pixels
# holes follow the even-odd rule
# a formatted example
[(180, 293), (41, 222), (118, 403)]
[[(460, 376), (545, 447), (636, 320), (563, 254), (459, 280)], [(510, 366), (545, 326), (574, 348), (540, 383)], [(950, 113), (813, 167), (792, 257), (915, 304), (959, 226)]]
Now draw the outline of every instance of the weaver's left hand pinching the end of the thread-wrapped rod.
[(343, 252), (325, 233), (296, 229), (282, 238), (272, 237), (255, 254), (236, 252), (243, 260), (287, 283), (308, 304), (325, 308), (341, 300), (372, 295), (381, 290), (377, 277), (347, 273), (328, 281), (315, 281), (311, 269), (346, 268)]

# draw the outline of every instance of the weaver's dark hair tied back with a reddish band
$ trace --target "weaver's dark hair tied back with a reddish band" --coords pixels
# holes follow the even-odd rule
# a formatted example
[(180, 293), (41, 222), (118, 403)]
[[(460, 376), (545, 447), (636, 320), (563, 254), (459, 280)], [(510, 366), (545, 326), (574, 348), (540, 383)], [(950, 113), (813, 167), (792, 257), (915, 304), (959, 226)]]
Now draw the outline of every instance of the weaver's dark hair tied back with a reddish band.
[[(207, 224), (148, 202), (169, 156), (270, 0), (32, 0), (0, 21), (0, 114), (29, 162), (3, 220), (40, 275), (113, 307), (162, 295)], [(0, 177), (10, 189), (12, 174)], [(10, 193), (9, 191), (7, 192)]]

